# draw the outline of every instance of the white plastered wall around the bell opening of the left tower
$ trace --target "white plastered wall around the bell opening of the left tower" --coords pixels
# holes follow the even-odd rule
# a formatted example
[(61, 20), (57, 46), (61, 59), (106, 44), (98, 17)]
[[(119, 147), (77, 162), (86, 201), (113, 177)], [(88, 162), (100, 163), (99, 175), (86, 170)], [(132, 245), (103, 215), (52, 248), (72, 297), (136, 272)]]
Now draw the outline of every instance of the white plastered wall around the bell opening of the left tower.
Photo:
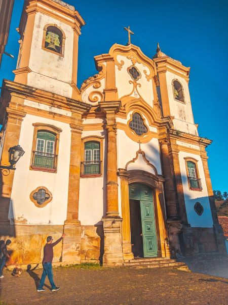
[[(64, 57), (42, 49), (43, 29), (46, 24), (57, 24), (65, 33)], [(73, 29), (70, 25), (51, 16), (37, 12), (29, 59), (28, 85), (62, 96), (71, 97), (73, 58)], [(51, 69), (50, 69), (51, 67)], [(75, 68), (75, 67), (74, 67)]]

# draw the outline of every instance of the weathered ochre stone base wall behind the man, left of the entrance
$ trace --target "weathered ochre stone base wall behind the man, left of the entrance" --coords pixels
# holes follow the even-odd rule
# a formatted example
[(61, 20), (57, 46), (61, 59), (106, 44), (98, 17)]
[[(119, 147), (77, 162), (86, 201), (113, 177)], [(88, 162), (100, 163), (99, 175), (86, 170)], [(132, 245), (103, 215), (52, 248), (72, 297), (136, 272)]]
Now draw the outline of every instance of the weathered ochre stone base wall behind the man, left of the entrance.
[[(43, 249), (47, 236), (51, 235), (54, 241), (61, 237), (63, 225), (5, 225), (0, 226), (0, 240), (11, 239), (8, 247), (10, 261), (8, 265), (17, 265), (26, 268), (28, 264), (42, 263)], [(102, 261), (103, 251), (103, 226), (82, 226), (81, 262)], [(53, 264), (66, 264), (62, 261), (62, 242), (54, 248)]]

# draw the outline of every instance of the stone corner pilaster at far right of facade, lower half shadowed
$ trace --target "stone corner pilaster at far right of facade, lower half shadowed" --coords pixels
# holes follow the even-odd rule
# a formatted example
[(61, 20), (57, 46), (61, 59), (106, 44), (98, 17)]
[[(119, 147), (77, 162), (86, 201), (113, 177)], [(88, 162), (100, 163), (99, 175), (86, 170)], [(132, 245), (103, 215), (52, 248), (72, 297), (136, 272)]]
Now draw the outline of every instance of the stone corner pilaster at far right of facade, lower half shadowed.
[(204, 176), (205, 176), (205, 180), (206, 180), (207, 192), (208, 192), (210, 208), (211, 208), (211, 215), (212, 215), (212, 219), (213, 219), (214, 235), (215, 235), (215, 239), (217, 242), (218, 252), (221, 254), (226, 254), (223, 230), (218, 222), (218, 215), (217, 215), (217, 210), (216, 210), (215, 202), (214, 202), (214, 194), (213, 194), (213, 190), (212, 190), (211, 177), (210, 177), (208, 162), (207, 162), (207, 159), (208, 159), (207, 152), (205, 150), (205, 144), (203, 144), (203, 143), (200, 143), (200, 153), (201, 153), (201, 159), (202, 159), (202, 163), (203, 163)]

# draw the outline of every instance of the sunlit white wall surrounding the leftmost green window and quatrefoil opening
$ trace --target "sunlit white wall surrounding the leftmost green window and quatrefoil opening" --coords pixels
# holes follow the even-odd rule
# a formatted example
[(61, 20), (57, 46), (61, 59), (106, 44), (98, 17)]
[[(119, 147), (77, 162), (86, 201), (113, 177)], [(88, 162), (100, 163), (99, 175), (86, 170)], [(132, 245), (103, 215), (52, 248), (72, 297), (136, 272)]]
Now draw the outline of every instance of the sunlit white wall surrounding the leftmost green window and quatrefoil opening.
[[(57, 173), (29, 170), (32, 151), (33, 123), (51, 124), (62, 129), (59, 139)], [(66, 220), (71, 131), (68, 124), (27, 114), (21, 126), (19, 144), (25, 154), (17, 163), (11, 196), (9, 219), (26, 219), (27, 224), (62, 225)], [(46, 187), (53, 199), (39, 208), (29, 195), (37, 187)]]

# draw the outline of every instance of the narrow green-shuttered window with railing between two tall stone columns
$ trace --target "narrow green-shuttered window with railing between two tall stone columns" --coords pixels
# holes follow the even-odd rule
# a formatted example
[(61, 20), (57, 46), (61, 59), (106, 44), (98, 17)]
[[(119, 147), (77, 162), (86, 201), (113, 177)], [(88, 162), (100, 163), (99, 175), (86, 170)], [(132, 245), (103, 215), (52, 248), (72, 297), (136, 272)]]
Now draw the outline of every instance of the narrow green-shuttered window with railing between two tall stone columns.
[(84, 175), (100, 174), (100, 143), (86, 142), (85, 143), (85, 161), (83, 164)]

